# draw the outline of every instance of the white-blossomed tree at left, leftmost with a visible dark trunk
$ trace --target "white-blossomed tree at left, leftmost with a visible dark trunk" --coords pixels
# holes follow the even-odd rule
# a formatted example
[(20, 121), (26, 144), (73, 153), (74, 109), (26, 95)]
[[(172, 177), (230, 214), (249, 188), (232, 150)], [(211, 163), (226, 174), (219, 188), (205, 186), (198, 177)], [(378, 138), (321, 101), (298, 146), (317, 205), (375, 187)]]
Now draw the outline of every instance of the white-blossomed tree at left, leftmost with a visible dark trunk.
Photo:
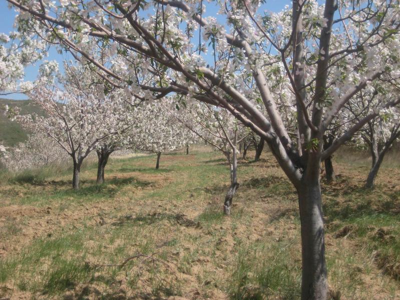
[[(72, 73), (73, 72), (73, 75)], [(71, 77), (74, 80), (71, 80)], [(30, 98), (44, 111), (45, 116), (19, 115), (17, 120), (34, 132), (47, 133), (73, 160), (73, 187), (79, 188), (79, 174), (84, 159), (98, 143), (128, 126), (124, 98), (118, 92), (104, 94), (103, 84), (83, 88), (83, 77), (90, 76), (85, 68), (70, 69), (59, 75), (64, 90), (56, 84), (48, 86), (48, 79), (38, 79), (30, 91)], [(87, 86), (86, 86), (87, 87)], [(123, 125), (121, 125), (123, 124)]]

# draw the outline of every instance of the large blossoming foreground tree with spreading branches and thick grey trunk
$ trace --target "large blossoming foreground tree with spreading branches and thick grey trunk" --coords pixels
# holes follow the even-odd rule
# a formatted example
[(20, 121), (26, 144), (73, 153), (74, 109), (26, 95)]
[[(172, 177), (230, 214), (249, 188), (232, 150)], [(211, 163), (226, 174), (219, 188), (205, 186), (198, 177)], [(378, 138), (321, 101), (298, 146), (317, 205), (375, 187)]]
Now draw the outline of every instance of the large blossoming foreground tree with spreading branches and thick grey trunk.
[[(203, 16), (209, 7), (203, 1), (8, 2), (21, 12), (17, 22), (32, 23), (24, 32), (32, 33), (33, 28), (57, 40), (114, 82), (157, 94), (193, 94), (199, 101), (224, 107), (263, 137), (298, 193), (301, 297), (326, 298), (320, 161), (378, 112), (355, 122), (327, 148), (323, 135), (368, 82), (387, 74), (398, 76), (398, 3), (296, 0), (291, 8), (264, 14), (267, 4), (262, 0), (210, 1), (226, 20), (219, 23), (214, 16)], [(150, 16), (143, 17), (142, 10)], [(118, 58), (114, 66), (125, 70), (123, 76), (87, 51), (91, 40), (113, 49)], [(266, 76), (276, 63), (283, 66), (278, 73), (284, 76)], [(149, 74), (154, 80), (143, 82)], [(296, 110), (298, 138), (283, 121), (281, 99), (271, 92), (277, 80), (292, 91), (285, 100)], [(381, 108), (399, 102), (386, 99)]]

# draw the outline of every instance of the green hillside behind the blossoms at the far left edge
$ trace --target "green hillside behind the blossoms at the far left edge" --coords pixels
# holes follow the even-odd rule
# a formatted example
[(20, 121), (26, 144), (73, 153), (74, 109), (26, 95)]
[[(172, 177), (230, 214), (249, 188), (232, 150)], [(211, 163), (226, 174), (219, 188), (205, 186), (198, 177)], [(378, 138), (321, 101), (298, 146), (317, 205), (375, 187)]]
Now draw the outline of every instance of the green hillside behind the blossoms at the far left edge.
[[(20, 107), (21, 114), (41, 113), (38, 106), (35, 106), (31, 100), (10, 100), (0, 99), (0, 104), (7, 104), (11, 107)], [(13, 146), (20, 141), (27, 139), (27, 132), (16, 121), (12, 121), (6, 115), (0, 114), (0, 140), (6, 146)]]

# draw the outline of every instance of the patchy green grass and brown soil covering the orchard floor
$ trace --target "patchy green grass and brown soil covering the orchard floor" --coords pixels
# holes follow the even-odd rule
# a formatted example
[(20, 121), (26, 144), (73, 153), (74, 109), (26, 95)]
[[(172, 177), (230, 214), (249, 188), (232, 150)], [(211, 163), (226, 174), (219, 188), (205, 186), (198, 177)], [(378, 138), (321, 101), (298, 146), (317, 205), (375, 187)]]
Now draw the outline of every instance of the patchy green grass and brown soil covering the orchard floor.
[[(322, 185), (329, 287), (336, 299), (395, 299), (400, 190), (389, 181), (400, 170), (384, 165), (365, 190), (357, 157), (356, 170), (335, 157), (338, 179)], [(239, 162), (230, 217), (222, 156), (166, 154), (158, 170), (155, 159), (112, 157), (103, 185), (89, 159), (78, 191), (69, 165), (3, 174), (0, 297), (299, 298), (297, 197), (270, 153)]]

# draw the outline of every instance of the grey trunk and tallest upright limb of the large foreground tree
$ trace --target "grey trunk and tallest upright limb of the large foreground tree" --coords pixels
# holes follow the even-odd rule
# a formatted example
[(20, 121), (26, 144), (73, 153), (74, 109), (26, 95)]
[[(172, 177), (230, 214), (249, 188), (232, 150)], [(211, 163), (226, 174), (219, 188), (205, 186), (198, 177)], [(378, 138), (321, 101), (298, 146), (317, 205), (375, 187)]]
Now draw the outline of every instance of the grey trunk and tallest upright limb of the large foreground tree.
[[(296, 7), (294, 7), (296, 4)], [(293, 2), (293, 13), (298, 13), (299, 2)], [(323, 16), (327, 19), (326, 26), (321, 28), (319, 50), (323, 49), (324, 59), (319, 59), (315, 75), (315, 93), (312, 97), (312, 113), (310, 139), (318, 141), (315, 147), (303, 148), (302, 161), (306, 161), (301, 182), (297, 184), (301, 221), (301, 300), (325, 300), (328, 284), (325, 261), (325, 242), (323, 229), (323, 214), (321, 207), (321, 189), (319, 170), (321, 153), (323, 152), (323, 109), (318, 106), (325, 101), (326, 82), (329, 64), (329, 44), (332, 32), (333, 16), (337, 9), (335, 0), (326, 0)], [(293, 16), (294, 19), (294, 16)], [(301, 22), (301, 17), (299, 18)], [(297, 41), (299, 42), (299, 41)], [(322, 58), (322, 57), (321, 57)], [(301, 61), (299, 61), (301, 62)], [(300, 83), (301, 84), (301, 83)], [(297, 113), (305, 111), (297, 109)], [(305, 119), (306, 120), (306, 119)], [(302, 132), (302, 120), (298, 119), (300, 137), (304, 134), (307, 142), (307, 132)], [(305, 129), (305, 128), (304, 128)]]

